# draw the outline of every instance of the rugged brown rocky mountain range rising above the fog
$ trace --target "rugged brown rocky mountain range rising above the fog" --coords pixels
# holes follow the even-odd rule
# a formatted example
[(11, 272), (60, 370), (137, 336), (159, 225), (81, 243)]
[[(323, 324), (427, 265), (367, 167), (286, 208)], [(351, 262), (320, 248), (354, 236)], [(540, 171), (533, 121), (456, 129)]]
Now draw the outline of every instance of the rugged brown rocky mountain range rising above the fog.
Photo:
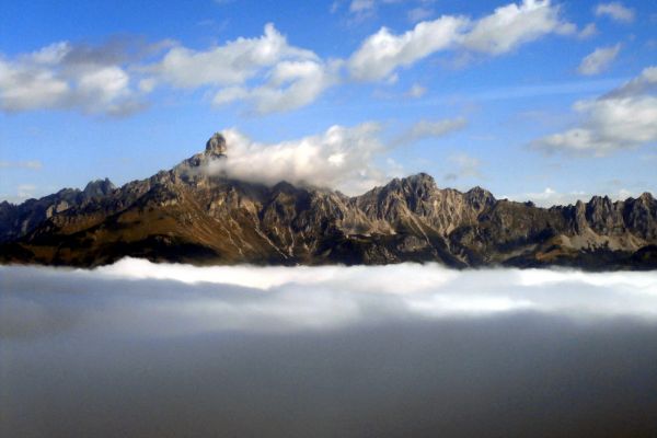
[(549, 209), (427, 174), (364, 195), (235, 181), (226, 140), (170, 171), (0, 204), (0, 261), (94, 266), (124, 256), (196, 264), (564, 265), (657, 268), (657, 200), (593, 197)]

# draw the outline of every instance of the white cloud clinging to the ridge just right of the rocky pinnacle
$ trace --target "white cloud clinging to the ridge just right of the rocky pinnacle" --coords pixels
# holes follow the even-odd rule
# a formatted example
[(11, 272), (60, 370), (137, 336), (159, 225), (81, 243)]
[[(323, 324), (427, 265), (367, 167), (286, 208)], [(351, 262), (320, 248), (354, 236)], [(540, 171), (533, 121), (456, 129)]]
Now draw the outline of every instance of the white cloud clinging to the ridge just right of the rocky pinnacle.
[(388, 180), (385, 170), (377, 164), (385, 152), (379, 131), (373, 123), (333, 126), (321, 135), (267, 145), (228, 129), (222, 132), (228, 159), (211, 162), (207, 171), (266, 184), (287, 181), (359, 194)]

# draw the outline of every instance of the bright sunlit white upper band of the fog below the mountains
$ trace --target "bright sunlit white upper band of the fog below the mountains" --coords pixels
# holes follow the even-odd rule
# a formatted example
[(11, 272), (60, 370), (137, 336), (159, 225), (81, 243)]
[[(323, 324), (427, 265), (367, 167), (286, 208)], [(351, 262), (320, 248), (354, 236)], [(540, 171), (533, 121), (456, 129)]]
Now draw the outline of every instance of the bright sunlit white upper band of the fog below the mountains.
[[(9, 269), (16, 268), (4, 270)], [(518, 311), (572, 318), (657, 318), (657, 277), (646, 273), (591, 274), (552, 269), (459, 272), (437, 264), (194, 267), (135, 258), (125, 258), (92, 272), (49, 269), (44, 273), (46, 268), (30, 269), (41, 269), (36, 274), (44, 279), (66, 276), (74, 284), (92, 279), (132, 279), (203, 286), (211, 293), (191, 289), (185, 293), (185, 303), (176, 299), (171, 308), (175, 309), (178, 318), (200, 318), (205, 321), (205, 332), (208, 332), (208, 324), (215, 330), (269, 332), (273, 328), (344, 326), (377, 316), (483, 316)], [(250, 288), (250, 291), (231, 293), (226, 291), (227, 285)], [(150, 290), (158, 289), (150, 287)]]

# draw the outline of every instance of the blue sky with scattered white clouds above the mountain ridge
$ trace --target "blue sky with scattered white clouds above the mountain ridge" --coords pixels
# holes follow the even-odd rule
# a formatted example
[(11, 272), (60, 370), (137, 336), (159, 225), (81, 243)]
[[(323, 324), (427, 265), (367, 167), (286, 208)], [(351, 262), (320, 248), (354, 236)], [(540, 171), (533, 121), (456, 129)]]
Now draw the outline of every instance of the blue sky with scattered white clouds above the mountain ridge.
[(0, 200), (145, 178), (215, 131), (238, 176), (350, 195), (655, 194), (656, 30), (645, 0), (7, 0)]

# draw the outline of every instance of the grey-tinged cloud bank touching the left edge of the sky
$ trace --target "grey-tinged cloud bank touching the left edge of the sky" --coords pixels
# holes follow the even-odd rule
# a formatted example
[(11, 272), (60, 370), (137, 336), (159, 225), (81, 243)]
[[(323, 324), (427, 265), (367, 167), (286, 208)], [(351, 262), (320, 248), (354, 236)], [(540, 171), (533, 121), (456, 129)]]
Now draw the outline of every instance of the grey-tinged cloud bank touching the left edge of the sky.
[(122, 50), (116, 44), (90, 47), (61, 42), (12, 59), (0, 56), (0, 108), (115, 116), (139, 111), (143, 103)]

